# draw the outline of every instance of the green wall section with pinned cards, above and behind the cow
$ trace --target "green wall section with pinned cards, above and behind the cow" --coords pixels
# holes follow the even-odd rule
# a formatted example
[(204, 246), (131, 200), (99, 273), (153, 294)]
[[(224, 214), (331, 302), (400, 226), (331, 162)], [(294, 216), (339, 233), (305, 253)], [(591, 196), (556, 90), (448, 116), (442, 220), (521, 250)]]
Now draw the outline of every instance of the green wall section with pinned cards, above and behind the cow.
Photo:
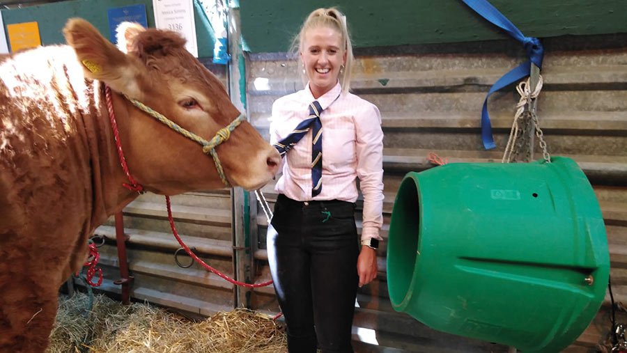
[[(64, 43), (61, 30), (70, 17), (82, 17), (91, 22), (105, 38), (109, 38), (107, 10), (121, 6), (144, 4), (148, 26), (155, 26), (152, 0), (73, 0), (28, 6), (19, 9), (1, 10), (5, 25), (21, 22), (38, 22), (42, 45)], [(213, 56), (215, 36), (200, 4), (194, 1), (194, 19), (199, 57)]]

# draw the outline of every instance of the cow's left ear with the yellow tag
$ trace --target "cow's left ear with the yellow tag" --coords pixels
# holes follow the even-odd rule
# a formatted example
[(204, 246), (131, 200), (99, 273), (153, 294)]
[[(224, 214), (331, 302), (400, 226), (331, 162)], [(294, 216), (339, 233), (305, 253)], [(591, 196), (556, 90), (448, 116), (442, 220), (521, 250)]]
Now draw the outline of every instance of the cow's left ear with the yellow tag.
[(146, 69), (137, 58), (118, 50), (84, 19), (68, 20), (63, 28), (63, 36), (83, 64), (86, 77), (103, 81), (112, 90), (139, 99), (138, 77)]

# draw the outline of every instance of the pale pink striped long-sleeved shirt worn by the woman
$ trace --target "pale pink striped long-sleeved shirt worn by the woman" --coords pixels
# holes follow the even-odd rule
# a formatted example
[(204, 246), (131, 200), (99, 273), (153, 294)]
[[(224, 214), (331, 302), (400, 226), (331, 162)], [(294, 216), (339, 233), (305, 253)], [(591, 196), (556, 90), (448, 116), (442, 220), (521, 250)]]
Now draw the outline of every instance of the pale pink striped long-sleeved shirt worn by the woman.
[[(364, 195), (362, 240), (382, 240), (383, 222), (383, 132), (379, 109), (353, 95), (341, 94), (340, 84), (318, 98), (324, 109), (322, 192), (311, 197), (311, 132), (286, 154), (279, 168), (283, 174), (275, 190), (298, 201), (342, 200), (355, 202), (357, 183)], [(339, 96), (338, 96), (339, 95)], [(336, 99), (337, 98), (337, 99)], [(309, 84), (304, 90), (286, 95), (272, 104), (270, 143), (290, 134), (309, 116), (314, 96)]]

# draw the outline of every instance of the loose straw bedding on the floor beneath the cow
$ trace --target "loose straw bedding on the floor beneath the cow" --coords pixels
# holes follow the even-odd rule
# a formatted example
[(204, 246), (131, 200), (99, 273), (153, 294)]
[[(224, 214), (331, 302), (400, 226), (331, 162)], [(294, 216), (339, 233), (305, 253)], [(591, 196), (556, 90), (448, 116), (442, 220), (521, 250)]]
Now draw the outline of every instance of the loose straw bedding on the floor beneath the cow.
[(56, 327), (47, 353), (68, 352), (287, 352), (283, 327), (247, 309), (217, 313), (194, 322), (148, 304), (123, 306), (78, 293), (59, 299)]

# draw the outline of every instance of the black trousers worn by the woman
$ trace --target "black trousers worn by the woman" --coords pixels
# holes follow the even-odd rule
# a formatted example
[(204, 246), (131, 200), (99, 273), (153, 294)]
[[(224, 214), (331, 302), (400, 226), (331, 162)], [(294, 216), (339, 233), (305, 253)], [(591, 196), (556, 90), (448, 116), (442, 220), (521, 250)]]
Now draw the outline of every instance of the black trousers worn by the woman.
[(268, 260), (290, 353), (353, 352), (350, 344), (359, 242), (355, 204), (279, 195)]

